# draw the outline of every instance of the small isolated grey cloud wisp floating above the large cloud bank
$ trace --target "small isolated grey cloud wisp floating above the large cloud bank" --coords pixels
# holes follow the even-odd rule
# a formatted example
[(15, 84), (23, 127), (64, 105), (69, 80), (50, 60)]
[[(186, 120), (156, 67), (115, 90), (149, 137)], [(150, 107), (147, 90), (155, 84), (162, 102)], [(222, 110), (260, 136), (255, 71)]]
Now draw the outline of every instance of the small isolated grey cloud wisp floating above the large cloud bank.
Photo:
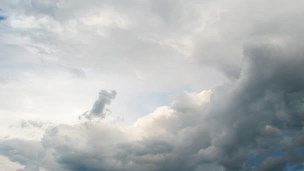
[(109, 105), (111, 101), (115, 98), (116, 91), (111, 90), (110, 92), (102, 89), (98, 93), (98, 99), (94, 102), (92, 108), (88, 111), (85, 111), (82, 115), (79, 115), (78, 118), (86, 118), (91, 120), (92, 118), (103, 118), (106, 114), (110, 112), (106, 108), (106, 105)]

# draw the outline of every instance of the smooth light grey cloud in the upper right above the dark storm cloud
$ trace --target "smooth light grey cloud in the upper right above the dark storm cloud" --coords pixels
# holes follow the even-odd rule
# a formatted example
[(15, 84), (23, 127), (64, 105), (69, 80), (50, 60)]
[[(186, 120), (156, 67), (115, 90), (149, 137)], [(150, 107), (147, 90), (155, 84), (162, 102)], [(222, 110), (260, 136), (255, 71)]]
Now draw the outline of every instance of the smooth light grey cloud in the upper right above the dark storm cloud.
[[(214, 1), (214, 5), (224, 10), (214, 10), (212, 19), (206, 20), (204, 30), (193, 38), (193, 56), (203, 65), (216, 67), (227, 77), (237, 78), (240, 73), (243, 56), (239, 47), (243, 44), (266, 42), (301, 46), (296, 43), (300, 41), (299, 37), (303, 35), (300, 30), (304, 27), (296, 19), (302, 13), (301, 1), (290, 4), (284, 0), (271, 0), (265, 4), (263, 0), (235, 0)], [(269, 10), (273, 5), (284, 10)]]

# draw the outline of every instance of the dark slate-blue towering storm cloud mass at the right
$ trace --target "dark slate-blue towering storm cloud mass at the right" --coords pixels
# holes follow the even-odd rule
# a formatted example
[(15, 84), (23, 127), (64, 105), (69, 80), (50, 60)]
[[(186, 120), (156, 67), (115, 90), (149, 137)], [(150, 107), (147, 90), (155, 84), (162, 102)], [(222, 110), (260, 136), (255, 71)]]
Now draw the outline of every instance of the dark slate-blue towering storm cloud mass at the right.
[[(288, 146), (284, 146), (284, 139), (301, 132), (304, 120), (304, 76), (298, 74), (304, 71), (301, 51), (255, 45), (245, 47), (244, 53), (247, 66), (240, 78), (234, 85), (213, 92), (208, 111), (209, 119), (215, 119), (223, 131), (223, 138), (219, 136), (214, 141), (219, 152), (216, 160), (228, 170), (241, 169), (254, 153), (267, 155), (285, 150), (281, 149)], [(280, 169), (291, 160), (279, 159)], [(274, 161), (277, 158), (265, 161), (264, 165)], [(269, 170), (264, 167), (261, 169)]]

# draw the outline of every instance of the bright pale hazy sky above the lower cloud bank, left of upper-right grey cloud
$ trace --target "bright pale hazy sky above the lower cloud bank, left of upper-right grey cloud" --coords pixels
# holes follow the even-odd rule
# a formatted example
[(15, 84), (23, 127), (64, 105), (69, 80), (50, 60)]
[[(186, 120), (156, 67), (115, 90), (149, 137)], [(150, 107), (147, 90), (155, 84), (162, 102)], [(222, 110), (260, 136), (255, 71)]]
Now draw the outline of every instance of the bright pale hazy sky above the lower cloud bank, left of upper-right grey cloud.
[(117, 91), (109, 118), (131, 123), (183, 91), (225, 81), (211, 64), (237, 67), (239, 56), (212, 59), (215, 46), (194, 56), (197, 43), (221, 39), (213, 24), (224, 4), (171, 3), (2, 1), (0, 137), (19, 136), (9, 126), (22, 119), (76, 123), (100, 89)]

